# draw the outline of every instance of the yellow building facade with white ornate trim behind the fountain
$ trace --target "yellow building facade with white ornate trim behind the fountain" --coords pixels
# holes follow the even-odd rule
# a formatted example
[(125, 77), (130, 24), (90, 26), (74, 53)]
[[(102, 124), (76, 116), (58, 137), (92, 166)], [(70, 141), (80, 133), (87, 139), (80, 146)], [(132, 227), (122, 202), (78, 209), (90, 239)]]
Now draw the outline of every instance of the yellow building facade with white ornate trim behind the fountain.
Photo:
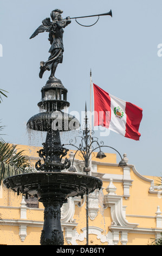
[[(40, 148), (18, 145), (35, 164)], [(69, 150), (68, 157), (73, 159)], [(148, 245), (162, 232), (162, 191), (156, 176), (142, 176), (129, 164), (121, 168), (116, 154), (103, 160), (92, 159), (92, 175), (103, 182), (102, 190), (88, 197), (89, 245)], [(78, 173), (84, 163), (74, 160)], [(68, 170), (66, 170), (68, 172)], [(0, 245), (40, 245), (43, 229), (43, 204), (37, 198), (25, 199), (1, 186)], [(86, 196), (69, 198), (61, 208), (64, 245), (86, 245)]]

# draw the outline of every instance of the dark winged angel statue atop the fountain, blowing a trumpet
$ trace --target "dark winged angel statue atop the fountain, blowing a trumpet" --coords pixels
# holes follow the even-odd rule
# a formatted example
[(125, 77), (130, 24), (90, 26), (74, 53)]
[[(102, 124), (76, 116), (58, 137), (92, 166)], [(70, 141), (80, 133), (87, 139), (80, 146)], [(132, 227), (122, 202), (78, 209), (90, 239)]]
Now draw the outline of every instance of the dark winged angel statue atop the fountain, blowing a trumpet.
[(55, 77), (55, 71), (57, 65), (62, 63), (63, 59), (63, 28), (65, 28), (68, 24), (71, 23), (70, 17), (66, 17), (65, 20), (62, 20), (61, 14), (62, 10), (55, 9), (51, 11), (51, 20), (50, 18), (46, 18), (42, 21), (42, 25), (36, 29), (33, 35), (30, 36), (34, 38), (36, 35), (42, 32), (49, 32), (49, 38), (51, 47), (49, 49), (50, 56), (47, 62), (40, 63), (40, 78), (42, 78), (44, 71), (51, 70), (51, 75), (49, 79), (57, 80)]

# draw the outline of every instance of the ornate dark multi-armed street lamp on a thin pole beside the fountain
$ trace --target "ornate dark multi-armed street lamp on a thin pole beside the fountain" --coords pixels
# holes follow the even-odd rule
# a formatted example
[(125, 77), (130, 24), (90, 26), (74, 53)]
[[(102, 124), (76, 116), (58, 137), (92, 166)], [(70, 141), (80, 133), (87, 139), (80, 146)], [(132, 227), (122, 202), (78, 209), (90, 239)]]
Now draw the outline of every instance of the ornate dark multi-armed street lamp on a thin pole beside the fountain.
[[(113, 150), (115, 150), (120, 158), (121, 161), (119, 162), (118, 166), (119, 167), (124, 167), (127, 165), (127, 163), (122, 159), (120, 153), (118, 152), (118, 150), (114, 149), (113, 147), (104, 145), (103, 141), (101, 141), (100, 143), (98, 142), (98, 138), (97, 137), (92, 137), (91, 134), (94, 134), (94, 131), (92, 130), (90, 132), (90, 130), (88, 129), (88, 118), (87, 118), (87, 106), (85, 107), (85, 127), (83, 129), (83, 131), (79, 131), (79, 133), (82, 132), (82, 136), (76, 136), (75, 137), (75, 141), (73, 144), (73, 139), (70, 140), (69, 144), (65, 144), (65, 145), (70, 145), (76, 148), (75, 154), (73, 156), (73, 161), (72, 161), (72, 165), (69, 168), (69, 172), (76, 172), (76, 168), (74, 167), (74, 159), (77, 153), (79, 153), (79, 156), (81, 157), (81, 159), (83, 160), (85, 167), (83, 168), (83, 171), (86, 172), (87, 175), (89, 175), (88, 173), (90, 172), (90, 160), (91, 160), (91, 156), (92, 153), (96, 150), (99, 149), (98, 154), (96, 155), (96, 158), (98, 159), (103, 159), (106, 157), (106, 155), (102, 152), (101, 148), (103, 147), (107, 147), (107, 148), (111, 148)], [(76, 145), (77, 143), (77, 139), (76, 138), (80, 138), (81, 142), (79, 144), (79, 146)], [(93, 147), (93, 144), (96, 143), (96, 147)], [(87, 224), (87, 245), (88, 245), (88, 193), (86, 193), (86, 224)]]

